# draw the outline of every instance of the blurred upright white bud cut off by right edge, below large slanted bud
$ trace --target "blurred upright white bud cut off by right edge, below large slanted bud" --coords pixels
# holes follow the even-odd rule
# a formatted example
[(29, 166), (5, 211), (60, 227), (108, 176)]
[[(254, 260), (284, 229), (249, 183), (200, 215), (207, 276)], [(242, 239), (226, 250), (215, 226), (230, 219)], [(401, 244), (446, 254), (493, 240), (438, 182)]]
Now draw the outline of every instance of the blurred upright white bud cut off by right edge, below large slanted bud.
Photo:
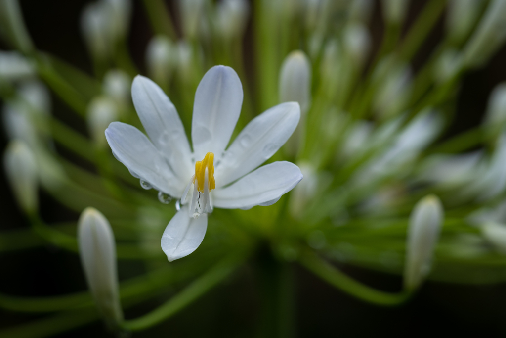
[(506, 127), (506, 82), (495, 86), (490, 94), (484, 127), (489, 135), (498, 135)]

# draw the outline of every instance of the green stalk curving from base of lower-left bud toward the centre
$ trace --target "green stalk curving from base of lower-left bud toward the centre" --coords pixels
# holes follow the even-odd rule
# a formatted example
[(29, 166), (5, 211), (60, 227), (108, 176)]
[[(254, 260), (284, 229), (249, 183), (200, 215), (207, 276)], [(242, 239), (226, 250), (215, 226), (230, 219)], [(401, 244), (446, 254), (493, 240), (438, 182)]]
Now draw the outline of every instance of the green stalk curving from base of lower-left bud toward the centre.
[(160, 307), (139, 318), (124, 321), (123, 328), (139, 331), (175, 315), (228, 277), (241, 264), (242, 260), (243, 257), (237, 257), (236, 253), (223, 259)]

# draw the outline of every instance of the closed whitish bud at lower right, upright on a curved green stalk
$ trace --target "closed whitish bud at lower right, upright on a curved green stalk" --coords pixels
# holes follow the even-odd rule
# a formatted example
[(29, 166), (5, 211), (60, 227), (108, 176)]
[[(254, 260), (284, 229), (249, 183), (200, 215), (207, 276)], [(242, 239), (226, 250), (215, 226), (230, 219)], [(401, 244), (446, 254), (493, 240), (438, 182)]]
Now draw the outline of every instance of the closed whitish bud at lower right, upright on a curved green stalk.
[(429, 274), (443, 218), (443, 206), (435, 195), (424, 197), (414, 206), (406, 241), (405, 289), (418, 288)]

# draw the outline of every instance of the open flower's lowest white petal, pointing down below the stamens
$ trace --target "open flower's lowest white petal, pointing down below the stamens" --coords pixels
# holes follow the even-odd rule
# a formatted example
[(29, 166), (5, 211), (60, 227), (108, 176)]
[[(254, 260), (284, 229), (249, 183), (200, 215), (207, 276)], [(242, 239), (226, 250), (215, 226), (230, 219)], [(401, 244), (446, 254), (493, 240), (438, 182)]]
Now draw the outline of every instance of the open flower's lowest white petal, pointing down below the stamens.
[(185, 205), (168, 222), (161, 237), (161, 249), (169, 261), (188, 256), (202, 243), (206, 230), (207, 214), (197, 219), (188, 217), (188, 205)]

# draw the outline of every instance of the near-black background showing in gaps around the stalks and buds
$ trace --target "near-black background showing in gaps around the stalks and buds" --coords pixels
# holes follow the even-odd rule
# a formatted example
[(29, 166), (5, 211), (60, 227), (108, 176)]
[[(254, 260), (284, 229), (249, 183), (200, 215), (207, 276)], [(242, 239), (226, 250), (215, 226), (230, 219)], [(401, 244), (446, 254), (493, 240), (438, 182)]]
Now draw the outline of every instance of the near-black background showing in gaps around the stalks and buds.
[[(88, 53), (79, 31), (80, 13), (88, 2), (22, 0), (23, 14), (33, 41), (39, 50), (48, 51), (91, 73)], [(425, 1), (413, 0), (406, 27), (416, 17)], [(174, 4), (168, 2), (173, 9)], [(381, 42), (383, 23), (381, 9), (375, 4), (371, 20), (373, 48)], [(176, 24), (178, 18), (175, 18)], [(413, 60), (416, 69), (430, 55), (444, 33), (440, 20), (428, 41)], [(129, 49), (137, 66), (144, 70), (144, 53), (152, 36), (140, 1), (134, 1)], [(245, 49), (251, 50), (251, 27), (245, 36)], [(5, 46), (3, 46), (5, 48)], [(447, 136), (478, 124), (488, 95), (500, 81), (506, 80), (506, 48), (502, 48), (486, 67), (468, 73), (458, 93), (456, 118)], [(246, 66), (252, 67), (251, 60)], [(249, 69), (254, 73), (254, 69)], [(53, 97), (54, 114), (86, 133), (82, 121), (69, 119), (71, 112)], [(2, 148), (6, 137), (0, 137)], [(61, 149), (59, 149), (61, 150)], [(27, 221), (16, 206), (2, 172), (0, 180), (0, 230), (27, 227)], [(48, 221), (75, 220), (77, 214), (65, 210), (41, 192), (43, 218)], [(131, 262), (128, 263), (131, 265)], [(122, 264), (119, 264), (121, 272)], [(381, 308), (364, 304), (329, 286), (299, 266), (293, 266), (296, 299), (294, 331), (300, 337), (312, 336), (427, 336), (506, 334), (506, 285), (464, 286), (427, 282), (412, 301), (400, 308)], [(370, 285), (384, 290), (398, 290), (397, 276), (371, 272), (351, 266), (343, 269)], [(251, 336), (259, 320), (259, 295), (256, 276), (251, 267), (243, 268), (227, 283), (215, 288), (176, 316), (134, 336)], [(86, 289), (80, 262), (76, 255), (53, 247), (3, 253), (0, 255), (0, 291), (13, 295), (56, 295)], [(135, 310), (126, 311), (134, 318), (159, 304), (155, 299)], [(38, 316), (0, 310), (0, 328), (21, 324)], [(58, 335), (59, 337), (109, 336), (101, 322)]]

